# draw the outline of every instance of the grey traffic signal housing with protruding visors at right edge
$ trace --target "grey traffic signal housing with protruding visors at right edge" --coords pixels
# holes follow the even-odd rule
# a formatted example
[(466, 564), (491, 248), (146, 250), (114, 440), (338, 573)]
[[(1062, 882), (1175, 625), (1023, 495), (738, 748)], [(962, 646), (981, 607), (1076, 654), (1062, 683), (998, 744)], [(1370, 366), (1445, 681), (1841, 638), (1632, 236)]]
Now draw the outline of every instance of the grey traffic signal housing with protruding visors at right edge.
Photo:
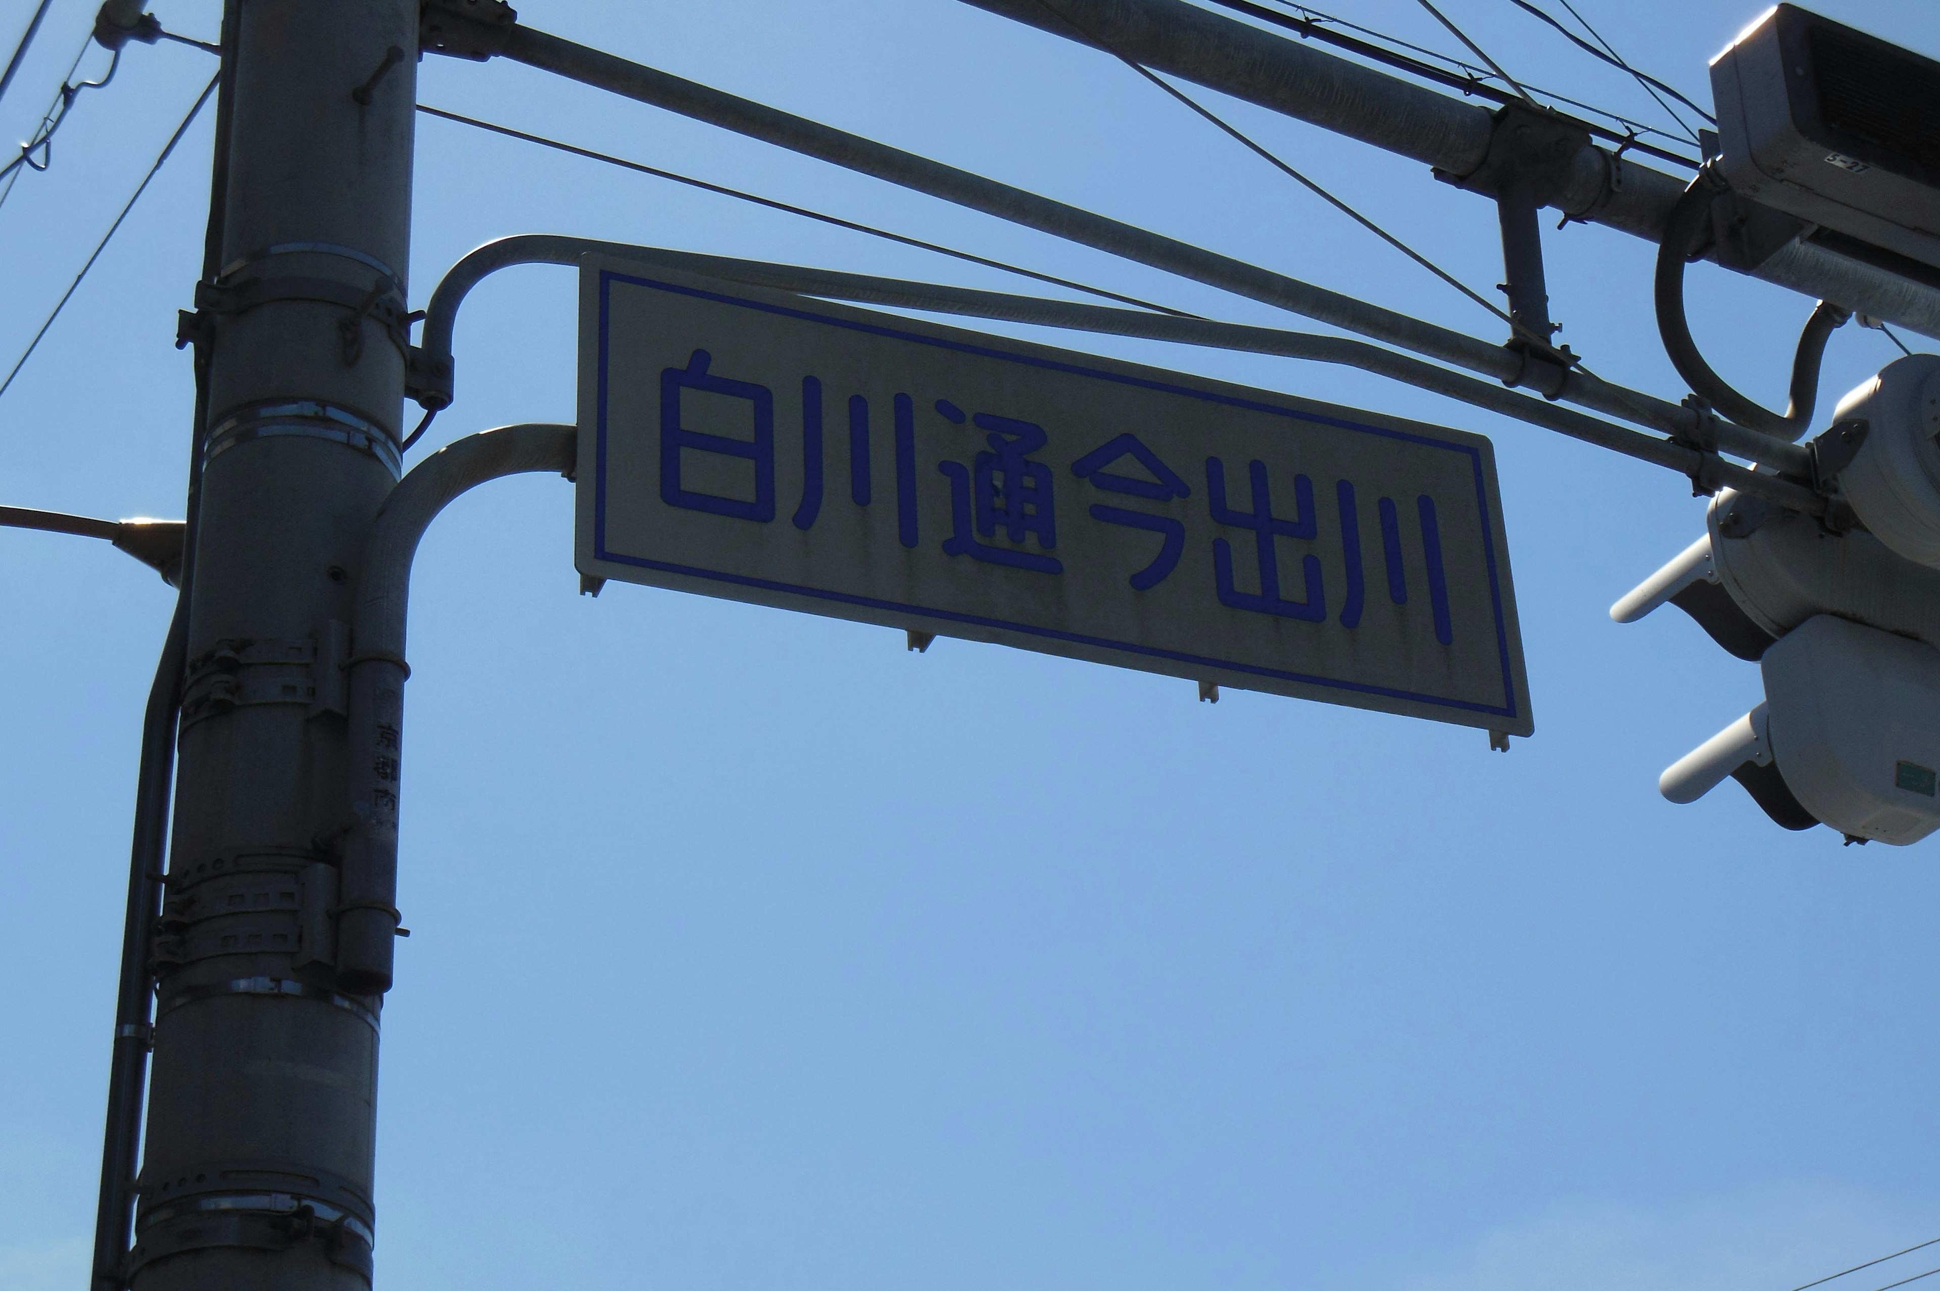
[(1851, 526), (1730, 489), (1705, 534), (1610, 608), (1672, 604), (1756, 660), (1765, 701), (1672, 763), (1670, 802), (1734, 778), (1787, 829), (1909, 844), (1940, 829), (1940, 357), (1839, 402), (1818, 458)]

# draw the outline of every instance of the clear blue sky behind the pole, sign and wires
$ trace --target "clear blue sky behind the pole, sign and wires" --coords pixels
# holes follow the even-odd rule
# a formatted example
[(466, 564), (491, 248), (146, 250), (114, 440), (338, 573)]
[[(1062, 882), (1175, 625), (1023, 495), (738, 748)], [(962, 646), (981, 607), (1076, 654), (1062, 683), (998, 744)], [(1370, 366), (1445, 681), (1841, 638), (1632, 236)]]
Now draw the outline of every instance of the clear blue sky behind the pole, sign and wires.
[[(1414, 4), (1333, 4), (1451, 45)], [(1705, 60), (1756, 12), (1575, 4), (1699, 101)], [(29, 8), (0, 4), (0, 39)], [(1443, 8), (1513, 74), (1659, 118), (1507, 0)], [(1926, 0), (1818, 8), (1940, 52)], [(215, 35), (213, 0), (157, 12)], [(0, 103), (6, 138), (91, 14), (54, 6)], [(1123, 66), (954, 0), (522, 16), (1496, 334)], [(0, 359), (210, 64), (130, 49), (0, 208)], [(512, 64), (433, 58), (419, 83), (427, 103), (1302, 326)], [(1224, 107), (1465, 281), (1500, 280), (1486, 202)], [(178, 514), (190, 369), (171, 340), (208, 151), (204, 120), (0, 400), (0, 503)], [(524, 231), (1018, 289), (440, 120), (419, 122), (415, 227), (413, 305), (466, 248)], [(1546, 239), (1564, 340), (1678, 398), (1651, 248), (1583, 225)], [(1692, 281), (1713, 361), (1781, 398), (1810, 303), (1713, 268)], [(566, 270), (483, 285), (436, 435), (572, 419), (572, 326)], [(997, 646), (918, 656), (887, 629), (673, 592), (580, 598), (570, 489), (481, 489), (431, 532), (413, 592), (415, 936), (384, 1025), (382, 1285), (1787, 1291), (1940, 1235), (1934, 844), (1787, 835), (1730, 784), (1690, 808), (1657, 796), (1666, 763), (1758, 699), (1756, 668), (1682, 615), (1606, 617), (1699, 532), (1686, 481), (1341, 369), (1077, 344), (1490, 435), (1536, 736), (1502, 755), (1476, 730), (1201, 705), (1187, 681)], [(1839, 332), (1827, 406), (1895, 353)], [(41, 1291), (85, 1270), (136, 734), (171, 592), (103, 544), (6, 532), (0, 596), (0, 1283)]]

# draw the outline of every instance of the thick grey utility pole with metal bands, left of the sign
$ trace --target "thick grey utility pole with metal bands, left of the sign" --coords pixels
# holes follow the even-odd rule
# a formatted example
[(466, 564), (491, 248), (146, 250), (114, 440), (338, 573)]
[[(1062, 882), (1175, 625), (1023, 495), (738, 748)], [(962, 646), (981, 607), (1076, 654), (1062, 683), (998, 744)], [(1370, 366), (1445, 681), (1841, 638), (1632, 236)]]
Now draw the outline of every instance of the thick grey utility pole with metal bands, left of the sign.
[(398, 478), (417, 8), (233, 6), (138, 1291), (371, 1279), (396, 910), (345, 848), (345, 625)]

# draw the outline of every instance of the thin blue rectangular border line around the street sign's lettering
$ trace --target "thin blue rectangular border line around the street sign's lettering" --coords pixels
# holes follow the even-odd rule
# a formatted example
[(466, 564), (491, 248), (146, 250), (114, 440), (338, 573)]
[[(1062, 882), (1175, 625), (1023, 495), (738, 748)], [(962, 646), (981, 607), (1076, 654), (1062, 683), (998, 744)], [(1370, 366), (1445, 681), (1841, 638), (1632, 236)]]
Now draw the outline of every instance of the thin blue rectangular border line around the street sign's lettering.
[[(799, 318), (803, 322), (819, 322), (823, 326), (844, 328), (850, 332), (865, 332), (869, 336), (887, 336), (890, 340), (912, 342), (918, 346), (931, 346), (935, 349), (954, 349), (958, 353), (974, 353), (986, 359), (1003, 359), (1007, 363), (1022, 363), (1026, 367), (1042, 367), (1053, 373), (1069, 373), (1073, 377), (1090, 377), (1094, 381), (1112, 381), (1123, 386), (1139, 386), (1143, 390), (1160, 390), (1164, 394), (1180, 394), (1185, 398), (1205, 400), (1209, 404), (1226, 404), (1228, 408), (1245, 408), (1251, 412), (1265, 412), (1278, 417), (1290, 417), (1294, 421), (1315, 421), (1319, 425), (1333, 425), (1344, 431), (1358, 431), (1362, 435), (1381, 435), (1385, 439), (1403, 439), (1416, 445), (1426, 445), (1430, 448), (1445, 448), (1449, 452), (1463, 452), (1469, 456), (1474, 472), (1474, 499), (1476, 509), (1482, 516), (1482, 559), (1488, 565), (1488, 592), (1496, 613), (1496, 648), (1502, 658), (1502, 693), (1507, 695), (1507, 705), (1482, 705), (1467, 699), (1449, 699), (1443, 695), (1420, 695), (1416, 691), (1393, 689), (1387, 685), (1366, 685), (1362, 681), (1342, 681), (1337, 678), (1313, 678), (1304, 672), (1286, 672), (1280, 668), (1263, 668), (1257, 664), (1236, 664), (1220, 658), (1207, 658), (1201, 654), (1185, 654), (1183, 650), (1162, 650), (1158, 646), (1137, 645), (1129, 641), (1110, 641), (1106, 637), (1086, 637), (1083, 633), (1067, 633), (1053, 627), (1036, 627), (1034, 623), (1013, 623), (1009, 619), (991, 619), (976, 613), (958, 613), (954, 610), (931, 610), (929, 606), (908, 606), (894, 600), (879, 600), (875, 596), (854, 596), (850, 592), (830, 592), (826, 588), (799, 586), (793, 582), (778, 582), (774, 579), (751, 579), (747, 575), (731, 575), (720, 569), (698, 569), (695, 565), (675, 565), (671, 561), (654, 561), (642, 555), (625, 555), (619, 551), (607, 551), (605, 546), (605, 507), (607, 507), (607, 314), (611, 303), (611, 283), (623, 281), (636, 287), (650, 287), (656, 291), (671, 291), (675, 295), (689, 295), (700, 301), (714, 301), (718, 305), (735, 305), (741, 309), (755, 309), (766, 314), (780, 314), (784, 318)], [(828, 600), (844, 606), (857, 606), (863, 610), (889, 610), (894, 613), (916, 613), (925, 619), (945, 619), (951, 623), (968, 623), (974, 627), (993, 627), (1011, 633), (1022, 633), (1026, 637), (1044, 637), (1046, 641), (1067, 641), (1071, 645), (1096, 646), (1104, 650), (1119, 650), (1123, 654), (1145, 654), (1148, 658), (1164, 658), (1176, 664), (1193, 664), (1201, 668), (1218, 668), (1220, 672), (1244, 672), (1259, 678), (1275, 678), (1280, 681), (1298, 681), (1302, 685), (1321, 685), (1337, 691), (1358, 691), (1362, 695), (1383, 695), (1389, 699), (1408, 699), (1412, 703), (1424, 703), (1443, 709), (1463, 709), (1469, 712), (1490, 712), (1505, 718), (1515, 718), (1515, 681), (1513, 668), (1509, 660), (1509, 631), (1504, 619), (1502, 608), (1502, 575), (1496, 565), (1496, 526), (1488, 511), (1488, 480), (1482, 474), (1482, 452), (1474, 445), (1449, 443), (1445, 439), (1432, 439), (1428, 435), (1416, 435), (1414, 431), (1395, 431), (1383, 425), (1364, 425), (1360, 421), (1342, 421), (1341, 417), (1327, 417), (1321, 414), (1298, 412), (1292, 408), (1280, 408), (1277, 404), (1261, 404), (1257, 400), (1245, 400), (1232, 394), (1216, 394), (1212, 390), (1193, 390), (1191, 386), (1176, 386), (1164, 381), (1152, 381), (1148, 377), (1131, 377), (1127, 373), (1112, 373), (1094, 367), (1081, 367), (1077, 363), (1063, 363), (1057, 359), (1046, 359), (1034, 353), (1013, 353), (1009, 349), (995, 349), (991, 346), (974, 346), (970, 342), (947, 340), (941, 336), (925, 336), (922, 332), (904, 332), (900, 328), (883, 326), (877, 322), (861, 322), (857, 318), (832, 318), (828, 314), (817, 314), (805, 309), (790, 309), (788, 305), (772, 305), (768, 301), (751, 301), (747, 297), (726, 295), (720, 291), (706, 291), (702, 287), (689, 287), (687, 283), (660, 281), (656, 278), (638, 278), (634, 274), (621, 274), (615, 270), (599, 270), (599, 375), (596, 390), (596, 412), (594, 412), (594, 557), (601, 561), (613, 561), (617, 565), (636, 565), (640, 569), (656, 569), (660, 573), (685, 575), (691, 579), (708, 579), (714, 582), (731, 582), (747, 588), (760, 588), (764, 592), (786, 592), (793, 596), (807, 596), (811, 600)]]

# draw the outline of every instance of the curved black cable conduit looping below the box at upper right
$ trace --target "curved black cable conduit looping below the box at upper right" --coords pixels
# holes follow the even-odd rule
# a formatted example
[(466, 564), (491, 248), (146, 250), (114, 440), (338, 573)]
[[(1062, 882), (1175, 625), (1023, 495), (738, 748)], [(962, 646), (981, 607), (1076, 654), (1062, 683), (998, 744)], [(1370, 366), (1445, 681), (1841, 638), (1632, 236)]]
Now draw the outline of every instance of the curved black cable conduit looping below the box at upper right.
[(1723, 190), (1721, 181), (1705, 169), (1690, 182), (1678, 204), (1670, 208), (1665, 241), (1657, 245), (1657, 332), (1665, 338), (1665, 353), (1670, 355), (1678, 377), (1690, 384), (1694, 394), (1709, 400), (1713, 408), (1738, 425), (1748, 425), (1754, 431), (1777, 435), (1785, 441), (1796, 441), (1812, 427), (1826, 342), (1833, 330), (1853, 316), (1853, 311), (1831, 301), (1820, 301), (1818, 309), (1812, 311), (1804, 332), (1798, 334), (1798, 351), (1793, 355), (1791, 406), (1785, 410), (1785, 415), (1754, 404), (1713, 373), (1711, 365), (1698, 353), (1690, 320), (1684, 316), (1684, 264), (1705, 223), (1711, 219), (1711, 198)]

